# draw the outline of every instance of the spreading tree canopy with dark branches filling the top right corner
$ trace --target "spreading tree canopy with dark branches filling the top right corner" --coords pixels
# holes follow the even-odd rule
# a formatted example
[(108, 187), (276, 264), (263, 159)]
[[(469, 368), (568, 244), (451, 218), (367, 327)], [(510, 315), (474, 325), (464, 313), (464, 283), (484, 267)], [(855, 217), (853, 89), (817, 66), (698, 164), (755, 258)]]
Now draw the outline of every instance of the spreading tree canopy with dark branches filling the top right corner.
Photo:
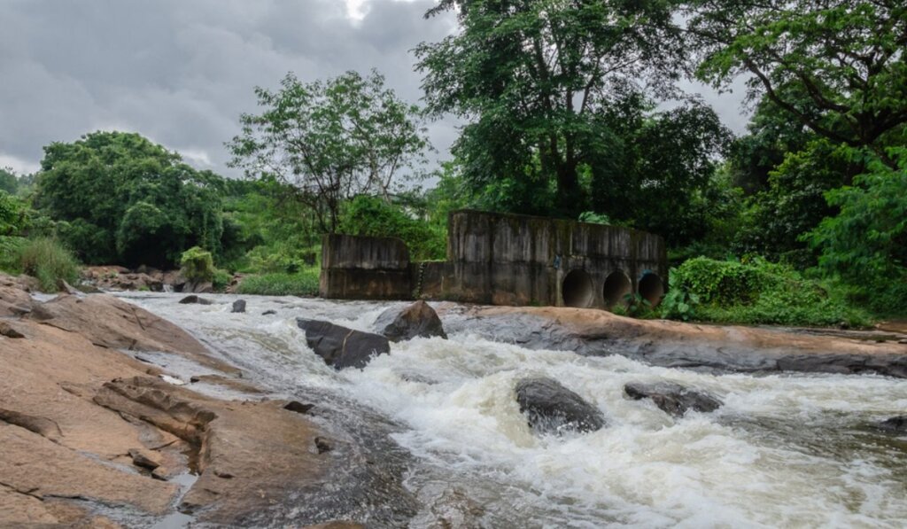
[(688, 32), (697, 74), (750, 95), (833, 142), (883, 153), (907, 122), (907, 4), (902, 0), (697, 0)]

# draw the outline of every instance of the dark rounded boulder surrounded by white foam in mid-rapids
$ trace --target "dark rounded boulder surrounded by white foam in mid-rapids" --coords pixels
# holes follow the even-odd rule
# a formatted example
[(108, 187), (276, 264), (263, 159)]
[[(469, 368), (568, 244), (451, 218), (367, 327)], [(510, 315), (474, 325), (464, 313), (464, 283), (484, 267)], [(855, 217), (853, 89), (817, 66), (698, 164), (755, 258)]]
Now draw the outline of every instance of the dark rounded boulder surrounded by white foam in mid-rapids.
[(521, 380), (516, 385), (516, 400), (529, 426), (539, 433), (590, 432), (605, 426), (598, 408), (551, 378)]

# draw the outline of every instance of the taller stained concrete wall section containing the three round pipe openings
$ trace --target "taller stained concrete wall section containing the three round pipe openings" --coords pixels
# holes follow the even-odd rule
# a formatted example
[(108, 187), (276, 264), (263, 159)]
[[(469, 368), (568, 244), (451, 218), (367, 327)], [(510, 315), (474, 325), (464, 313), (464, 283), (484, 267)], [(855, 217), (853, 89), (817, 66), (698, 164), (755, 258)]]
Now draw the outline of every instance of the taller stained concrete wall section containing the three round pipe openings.
[[(448, 230), (446, 276), (426, 282), (424, 295), (494, 305), (609, 308), (605, 285), (613, 272), (626, 274), (633, 291), (641, 282), (654, 301), (665, 289), (664, 240), (643, 231), (483, 211), (453, 211)], [(565, 290), (573, 270), (580, 272)]]

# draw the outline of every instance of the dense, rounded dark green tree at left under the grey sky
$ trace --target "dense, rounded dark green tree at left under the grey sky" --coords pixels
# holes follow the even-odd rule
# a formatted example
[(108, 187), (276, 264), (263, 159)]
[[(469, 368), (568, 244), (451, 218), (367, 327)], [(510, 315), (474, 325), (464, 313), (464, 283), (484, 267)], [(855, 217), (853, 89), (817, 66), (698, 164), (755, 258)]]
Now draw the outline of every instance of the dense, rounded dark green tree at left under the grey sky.
[(219, 180), (139, 134), (93, 132), (44, 148), (34, 201), (85, 262), (165, 267), (219, 250)]

